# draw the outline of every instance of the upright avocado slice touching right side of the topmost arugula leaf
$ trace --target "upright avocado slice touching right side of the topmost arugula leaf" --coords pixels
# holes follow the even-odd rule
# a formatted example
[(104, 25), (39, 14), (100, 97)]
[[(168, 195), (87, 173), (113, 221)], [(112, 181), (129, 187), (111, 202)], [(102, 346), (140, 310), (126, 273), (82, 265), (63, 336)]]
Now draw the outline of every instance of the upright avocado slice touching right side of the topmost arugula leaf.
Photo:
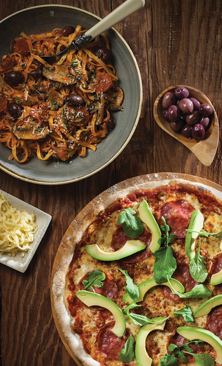
[(152, 240), (149, 244), (149, 249), (152, 253), (154, 253), (160, 247), (158, 240), (159, 238), (161, 238), (161, 231), (145, 199), (138, 207), (138, 212), (140, 214), (141, 220), (148, 226), (149, 230), (151, 231)]

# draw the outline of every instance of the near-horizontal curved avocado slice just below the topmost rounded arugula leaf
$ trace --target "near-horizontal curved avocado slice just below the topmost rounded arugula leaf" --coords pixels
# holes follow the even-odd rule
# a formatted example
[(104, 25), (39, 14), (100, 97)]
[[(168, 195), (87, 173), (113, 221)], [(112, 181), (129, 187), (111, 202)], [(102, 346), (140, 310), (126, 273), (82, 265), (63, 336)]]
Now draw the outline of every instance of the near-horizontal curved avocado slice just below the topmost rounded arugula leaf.
[(146, 247), (147, 244), (140, 240), (128, 240), (122, 248), (115, 252), (103, 252), (97, 244), (86, 245), (85, 249), (91, 257), (98, 259), (99, 261), (118, 261), (118, 259), (140, 252)]

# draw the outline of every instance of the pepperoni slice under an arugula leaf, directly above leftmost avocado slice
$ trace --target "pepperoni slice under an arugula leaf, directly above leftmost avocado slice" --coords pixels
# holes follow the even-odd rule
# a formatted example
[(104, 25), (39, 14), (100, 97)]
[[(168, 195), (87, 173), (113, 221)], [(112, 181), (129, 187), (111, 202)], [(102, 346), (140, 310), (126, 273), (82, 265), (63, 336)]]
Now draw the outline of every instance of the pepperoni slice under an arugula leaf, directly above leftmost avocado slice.
[[(116, 285), (116, 282), (114, 281), (113, 277), (109, 275), (108, 273), (105, 274), (106, 278), (102, 281), (103, 286), (102, 287), (96, 287), (93, 286), (94, 291), (96, 293), (99, 293), (100, 295), (103, 295), (107, 297), (108, 299), (114, 301), (117, 298), (118, 295), (118, 288)], [(83, 289), (82, 280), (87, 279), (88, 273), (86, 273), (80, 280), (80, 289)]]

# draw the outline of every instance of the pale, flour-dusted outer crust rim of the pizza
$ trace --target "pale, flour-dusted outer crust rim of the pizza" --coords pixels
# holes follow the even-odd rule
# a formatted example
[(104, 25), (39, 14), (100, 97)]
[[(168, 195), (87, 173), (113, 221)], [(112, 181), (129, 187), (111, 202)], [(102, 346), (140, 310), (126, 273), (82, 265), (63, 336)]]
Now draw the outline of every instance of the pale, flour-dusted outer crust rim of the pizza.
[[(63, 241), (61, 242), (60, 247), (63, 248), (63, 254), (59, 269), (56, 272), (52, 282), (54, 309), (58, 322), (58, 328), (60, 329), (62, 336), (68, 344), (71, 352), (76, 357), (77, 360), (75, 361), (78, 361), (80, 365), (99, 366), (100, 364), (85, 353), (79, 336), (72, 330), (74, 319), (70, 315), (67, 308), (67, 296), (70, 292), (67, 289), (67, 273), (69, 271), (76, 245), (80, 241), (82, 234), (85, 232), (94, 218), (99, 214), (99, 212), (113, 204), (118, 198), (125, 197), (126, 195), (133, 193), (138, 189), (154, 189), (157, 187), (168, 185), (173, 186), (178, 184), (187, 186), (189, 188), (198, 188), (201, 191), (207, 192), (211, 196), (216, 196), (219, 201), (222, 201), (222, 192), (202, 183), (189, 182), (183, 179), (151, 182), (148, 181), (140, 183), (140, 179), (138, 178), (138, 183), (136, 183), (136, 185), (132, 185), (121, 190), (119, 190), (117, 185), (114, 185), (108, 188), (102, 194), (95, 197), (74, 219), (74, 231), (70, 236), (68, 236), (69, 239), (66, 240), (66, 243)], [(67, 233), (65, 236), (67, 236)]]

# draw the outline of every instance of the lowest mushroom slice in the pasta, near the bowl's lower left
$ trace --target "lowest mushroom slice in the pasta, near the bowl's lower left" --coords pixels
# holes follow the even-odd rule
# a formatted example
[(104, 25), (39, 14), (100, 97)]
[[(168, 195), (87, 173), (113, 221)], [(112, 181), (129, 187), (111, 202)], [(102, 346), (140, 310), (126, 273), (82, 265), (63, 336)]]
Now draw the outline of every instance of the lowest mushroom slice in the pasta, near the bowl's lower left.
[(48, 127), (38, 128), (38, 123), (31, 123), (29, 126), (12, 126), (11, 132), (18, 139), (23, 140), (39, 140), (44, 138), (50, 133)]

